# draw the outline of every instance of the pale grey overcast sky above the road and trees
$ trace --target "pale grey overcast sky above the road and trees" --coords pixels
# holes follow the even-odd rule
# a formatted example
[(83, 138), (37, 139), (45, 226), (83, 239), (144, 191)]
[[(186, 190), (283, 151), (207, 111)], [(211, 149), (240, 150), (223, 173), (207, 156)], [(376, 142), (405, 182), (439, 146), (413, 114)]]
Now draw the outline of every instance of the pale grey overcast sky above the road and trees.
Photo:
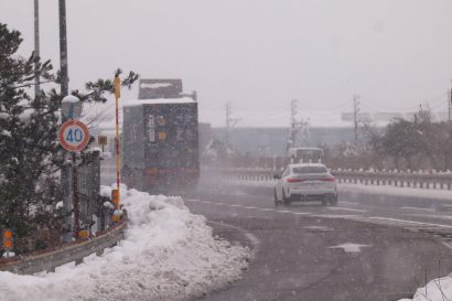
[[(118, 66), (182, 78), (214, 126), (228, 100), (241, 126), (287, 126), (293, 98), (314, 126), (351, 111), (355, 94), (363, 111), (446, 108), (450, 0), (66, 2), (73, 89)], [(40, 3), (41, 56), (58, 68), (58, 1)], [(0, 22), (23, 33), (22, 54), (33, 50), (33, 0), (0, 0)]]

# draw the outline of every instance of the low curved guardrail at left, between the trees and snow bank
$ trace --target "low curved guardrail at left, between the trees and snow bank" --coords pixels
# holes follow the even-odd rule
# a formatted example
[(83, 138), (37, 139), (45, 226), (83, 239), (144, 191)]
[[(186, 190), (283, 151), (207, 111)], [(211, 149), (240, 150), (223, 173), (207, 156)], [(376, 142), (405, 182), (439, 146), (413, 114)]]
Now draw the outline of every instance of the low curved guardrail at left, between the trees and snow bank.
[(115, 246), (125, 237), (127, 227), (127, 215), (115, 227), (104, 233), (99, 233), (92, 238), (79, 239), (57, 246), (44, 252), (33, 252), (25, 257), (15, 256), (0, 259), (0, 270), (20, 275), (32, 275), (40, 271), (55, 271), (56, 267), (75, 261), (76, 265), (83, 262), (83, 258), (96, 254), (100, 256), (104, 249)]

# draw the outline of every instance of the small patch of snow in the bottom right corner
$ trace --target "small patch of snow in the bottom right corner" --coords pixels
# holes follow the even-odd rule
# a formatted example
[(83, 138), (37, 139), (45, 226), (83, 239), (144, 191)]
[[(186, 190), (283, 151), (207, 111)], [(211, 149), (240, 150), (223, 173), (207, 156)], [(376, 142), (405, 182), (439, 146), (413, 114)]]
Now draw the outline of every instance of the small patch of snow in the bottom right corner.
[(444, 301), (452, 300), (452, 275), (438, 278), (426, 287), (419, 288), (412, 299), (400, 299), (399, 301)]

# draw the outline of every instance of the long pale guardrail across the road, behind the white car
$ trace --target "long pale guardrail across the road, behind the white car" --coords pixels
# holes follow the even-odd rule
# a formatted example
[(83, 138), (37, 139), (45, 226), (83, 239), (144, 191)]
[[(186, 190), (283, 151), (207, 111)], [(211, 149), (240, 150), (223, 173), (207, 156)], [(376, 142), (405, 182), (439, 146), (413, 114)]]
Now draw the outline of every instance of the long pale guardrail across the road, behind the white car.
[[(213, 171), (209, 171), (213, 172)], [(272, 169), (224, 169), (217, 171), (230, 180), (272, 181), (280, 171)], [(392, 185), (399, 187), (452, 190), (452, 173), (397, 171), (332, 171), (338, 183)]]

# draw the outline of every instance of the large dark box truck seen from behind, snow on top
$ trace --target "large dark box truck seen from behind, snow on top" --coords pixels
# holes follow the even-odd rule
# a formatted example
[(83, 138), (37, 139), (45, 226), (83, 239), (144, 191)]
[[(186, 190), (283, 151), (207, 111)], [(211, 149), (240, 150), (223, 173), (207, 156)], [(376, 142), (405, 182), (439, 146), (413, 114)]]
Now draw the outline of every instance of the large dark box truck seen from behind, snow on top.
[(165, 192), (200, 179), (196, 94), (180, 79), (141, 79), (139, 99), (123, 106), (122, 180)]

